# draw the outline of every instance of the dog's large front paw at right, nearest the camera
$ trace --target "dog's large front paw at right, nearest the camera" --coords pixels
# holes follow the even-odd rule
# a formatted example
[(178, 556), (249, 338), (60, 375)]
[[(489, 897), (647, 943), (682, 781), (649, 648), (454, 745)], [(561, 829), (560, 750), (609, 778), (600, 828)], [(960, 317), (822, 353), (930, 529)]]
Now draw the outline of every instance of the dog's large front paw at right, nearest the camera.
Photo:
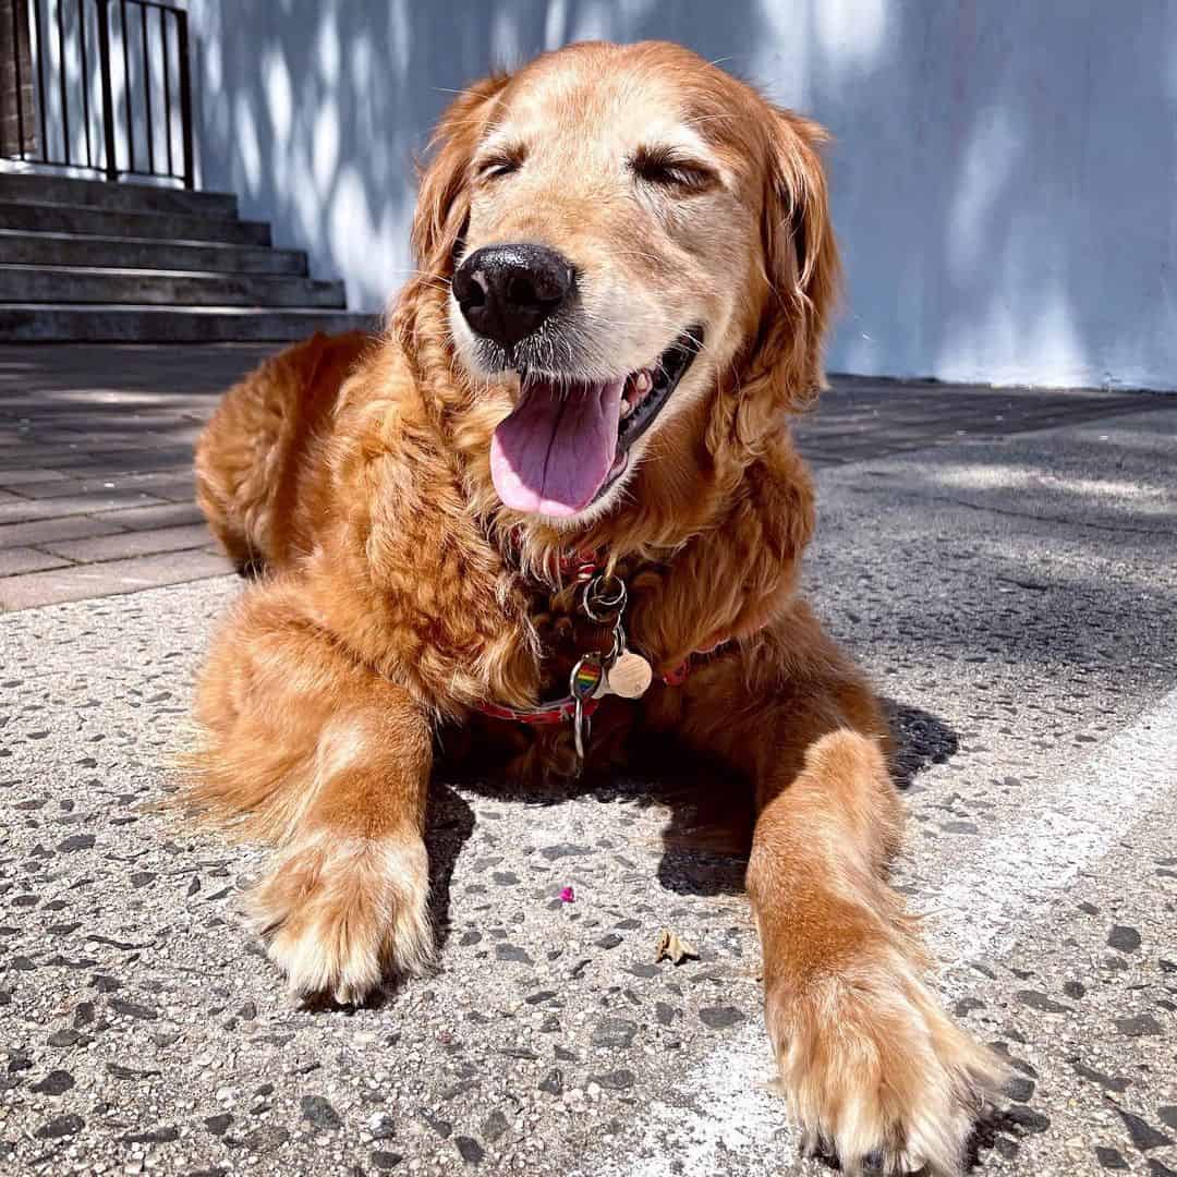
[(776, 1086), (807, 1152), (831, 1149), (843, 1172), (867, 1162), (887, 1173), (926, 1166), (957, 1177), (998, 1060), (940, 1009), (895, 944), (850, 967), (766, 995)]

